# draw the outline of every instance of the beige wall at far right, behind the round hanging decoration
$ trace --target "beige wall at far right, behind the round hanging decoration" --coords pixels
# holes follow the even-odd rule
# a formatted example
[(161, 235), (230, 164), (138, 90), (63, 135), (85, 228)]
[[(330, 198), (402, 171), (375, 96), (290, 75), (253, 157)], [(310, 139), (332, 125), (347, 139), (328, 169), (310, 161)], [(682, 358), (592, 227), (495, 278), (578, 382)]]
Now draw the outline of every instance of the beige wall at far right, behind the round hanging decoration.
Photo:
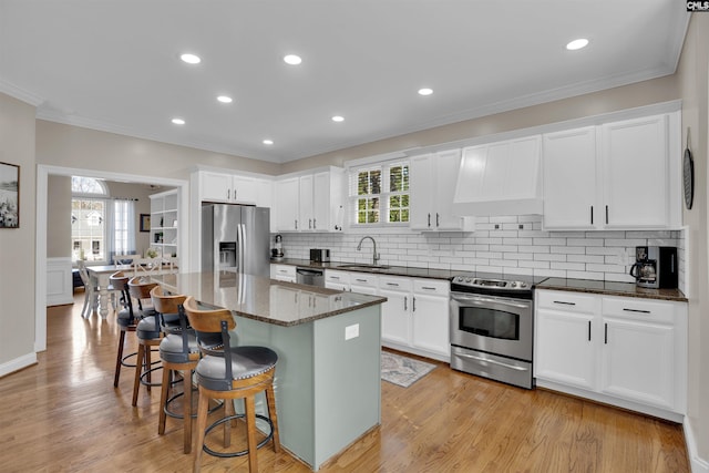
[[(687, 143), (690, 130), (690, 148), (695, 157), (695, 204), (685, 209), (687, 251), (691, 266), (687, 275), (689, 292), (689, 382), (688, 417), (698, 454), (709, 461), (709, 257), (707, 244), (707, 166), (709, 157), (709, 14), (693, 13), (685, 40), (677, 70), (682, 99), (682, 140)], [(702, 343), (703, 340), (703, 343)]]

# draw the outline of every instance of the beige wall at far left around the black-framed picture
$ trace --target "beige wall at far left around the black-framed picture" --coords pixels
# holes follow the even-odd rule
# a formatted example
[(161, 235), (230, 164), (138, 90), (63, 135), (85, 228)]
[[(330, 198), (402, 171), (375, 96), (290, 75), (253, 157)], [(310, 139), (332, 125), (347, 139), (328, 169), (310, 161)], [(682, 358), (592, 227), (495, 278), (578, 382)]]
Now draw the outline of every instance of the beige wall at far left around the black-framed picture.
[(0, 228), (0, 366), (34, 357), (34, 107), (0, 94), (0, 162), (20, 165), (20, 227)]

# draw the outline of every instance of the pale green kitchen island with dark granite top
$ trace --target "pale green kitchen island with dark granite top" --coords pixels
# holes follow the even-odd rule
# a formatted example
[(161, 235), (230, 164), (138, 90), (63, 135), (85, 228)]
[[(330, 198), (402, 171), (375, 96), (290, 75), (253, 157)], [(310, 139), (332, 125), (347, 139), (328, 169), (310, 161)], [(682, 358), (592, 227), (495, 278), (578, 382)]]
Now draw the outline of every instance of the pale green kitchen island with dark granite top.
[[(204, 306), (232, 310), (232, 343), (278, 353), (280, 442), (314, 471), (380, 424), (380, 307), (386, 298), (233, 273), (153, 279)], [(265, 411), (263, 397), (257, 410)]]

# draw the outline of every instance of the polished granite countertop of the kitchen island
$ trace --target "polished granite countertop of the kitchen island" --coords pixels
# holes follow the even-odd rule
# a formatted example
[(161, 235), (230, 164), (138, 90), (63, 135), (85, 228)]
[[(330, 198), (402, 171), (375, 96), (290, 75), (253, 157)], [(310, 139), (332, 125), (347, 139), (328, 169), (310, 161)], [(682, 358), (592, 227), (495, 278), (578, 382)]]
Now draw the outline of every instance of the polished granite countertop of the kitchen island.
[(152, 276), (166, 290), (266, 323), (296, 326), (387, 301), (386, 297), (276, 281), (234, 273)]

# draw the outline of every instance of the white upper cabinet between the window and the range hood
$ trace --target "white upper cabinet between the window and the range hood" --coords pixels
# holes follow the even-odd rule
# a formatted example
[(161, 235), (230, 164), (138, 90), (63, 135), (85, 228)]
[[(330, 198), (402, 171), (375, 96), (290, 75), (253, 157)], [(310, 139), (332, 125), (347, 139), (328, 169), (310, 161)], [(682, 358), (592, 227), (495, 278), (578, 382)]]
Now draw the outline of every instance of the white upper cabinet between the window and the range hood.
[(472, 230), (473, 218), (453, 215), (455, 181), (461, 151), (413, 156), (410, 162), (411, 228), (415, 230)]

